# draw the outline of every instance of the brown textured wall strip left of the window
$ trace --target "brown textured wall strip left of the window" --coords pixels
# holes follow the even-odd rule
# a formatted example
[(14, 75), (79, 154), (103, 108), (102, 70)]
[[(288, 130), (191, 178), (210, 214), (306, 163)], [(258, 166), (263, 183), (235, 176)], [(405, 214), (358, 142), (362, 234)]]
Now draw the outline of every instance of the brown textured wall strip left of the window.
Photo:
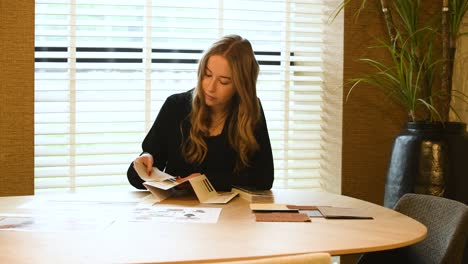
[(34, 1), (0, 0), (0, 196), (34, 193)]

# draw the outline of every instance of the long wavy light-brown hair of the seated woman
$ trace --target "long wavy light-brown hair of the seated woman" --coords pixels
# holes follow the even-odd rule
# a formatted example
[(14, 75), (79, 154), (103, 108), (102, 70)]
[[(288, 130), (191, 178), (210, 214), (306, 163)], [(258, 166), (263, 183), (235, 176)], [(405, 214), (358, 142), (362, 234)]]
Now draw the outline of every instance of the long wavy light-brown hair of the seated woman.
[(198, 82), (192, 96), (192, 124), (182, 146), (186, 161), (200, 164), (208, 152), (204, 140), (209, 135), (210, 109), (205, 103), (202, 81), (208, 59), (213, 55), (223, 56), (231, 69), (231, 78), (236, 90), (229, 107), (228, 139), (236, 151), (235, 171), (248, 167), (253, 153), (259, 149), (254, 130), (260, 120), (260, 105), (257, 98), (258, 62), (252, 45), (238, 35), (224, 36), (205, 51), (198, 65)]

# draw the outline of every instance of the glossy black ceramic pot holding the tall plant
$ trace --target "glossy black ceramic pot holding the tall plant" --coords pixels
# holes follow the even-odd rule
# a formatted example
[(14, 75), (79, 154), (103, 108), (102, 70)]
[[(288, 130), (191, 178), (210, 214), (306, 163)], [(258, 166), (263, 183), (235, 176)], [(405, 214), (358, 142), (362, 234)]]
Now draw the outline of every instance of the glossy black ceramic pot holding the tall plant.
[(405, 193), (443, 196), (468, 204), (468, 134), (460, 122), (409, 122), (394, 141), (384, 205)]

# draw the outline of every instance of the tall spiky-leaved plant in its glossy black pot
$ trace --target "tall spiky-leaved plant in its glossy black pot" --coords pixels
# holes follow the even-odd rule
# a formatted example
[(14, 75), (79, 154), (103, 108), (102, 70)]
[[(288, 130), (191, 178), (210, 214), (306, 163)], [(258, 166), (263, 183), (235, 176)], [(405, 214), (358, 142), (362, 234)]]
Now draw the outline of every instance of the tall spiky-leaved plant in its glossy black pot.
[[(350, 0), (342, 2), (341, 11)], [(361, 9), (368, 8), (361, 0)], [(385, 184), (385, 206), (407, 192), (429, 193), (468, 203), (466, 124), (449, 119), (453, 98), (468, 97), (452, 88), (453, 63), (468, 0), (441, 0), (440, 14), (421, 19), (427, 1), (380, 1), (388, 38), (374, 48), (388, 60), (361, 58), (374, 69), (350, 80), (347, 100), (362, 84), (383, 90), (407, 113), (395, 139)], [(433, 2), (431, 2), (433, 3)]]

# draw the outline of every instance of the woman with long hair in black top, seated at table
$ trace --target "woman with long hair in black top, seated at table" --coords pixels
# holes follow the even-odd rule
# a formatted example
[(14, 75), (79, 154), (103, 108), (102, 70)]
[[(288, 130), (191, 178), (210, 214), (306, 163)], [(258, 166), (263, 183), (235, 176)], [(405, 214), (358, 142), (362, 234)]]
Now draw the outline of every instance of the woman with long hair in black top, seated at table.
[[(172, 176), (205, 174), (217, 191), (273, 184), (273, 155), (256, 82), (259, 66), (247, 39), (229, 35), (200, 60), (197, 86), (169, 96), (135, 159)], [(131, 165), (127, 177), (144, 189)]]

